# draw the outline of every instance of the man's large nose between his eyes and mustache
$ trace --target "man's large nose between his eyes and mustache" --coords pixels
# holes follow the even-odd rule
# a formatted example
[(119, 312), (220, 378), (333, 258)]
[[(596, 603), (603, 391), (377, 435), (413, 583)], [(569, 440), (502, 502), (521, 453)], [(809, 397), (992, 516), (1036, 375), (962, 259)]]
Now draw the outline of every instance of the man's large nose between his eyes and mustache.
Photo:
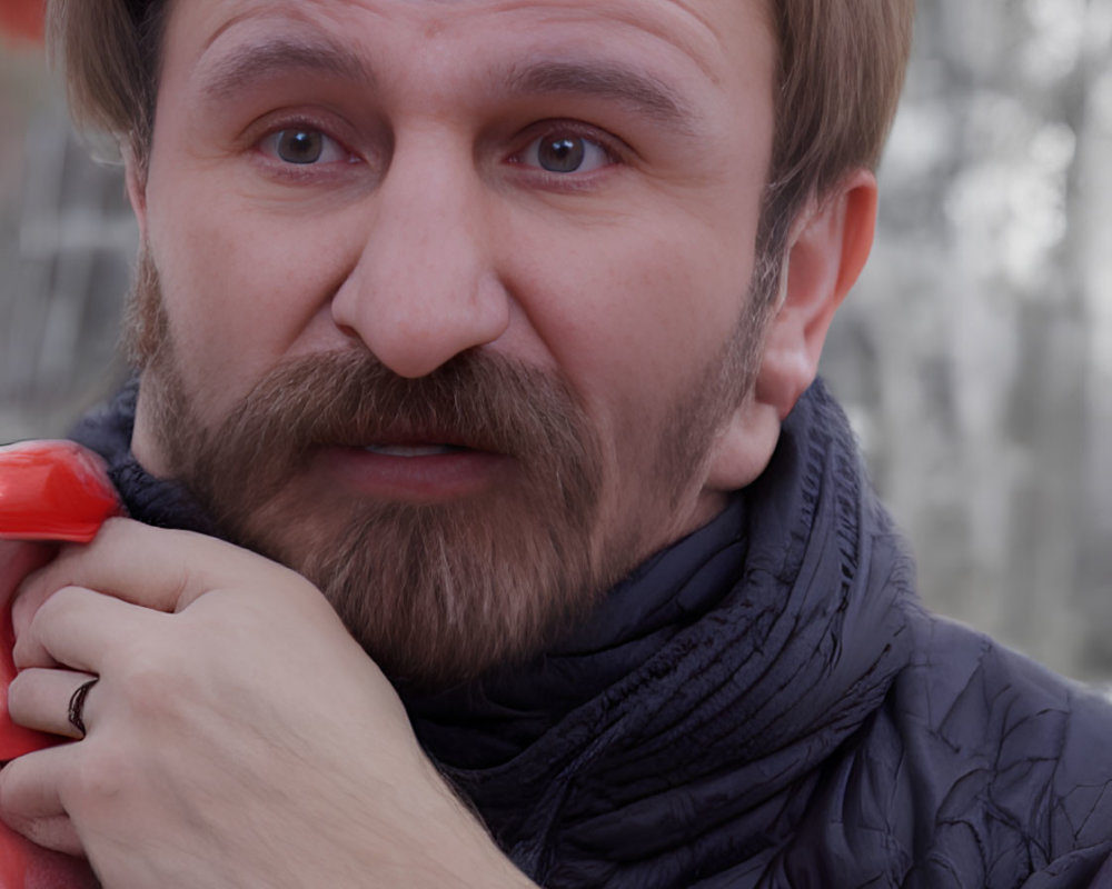
[(366, 241), (332, 298), (334, 321), (403, 377), (430, 373), (498, 339), (509, 323), (509, 297), (492, 261), (486, 190), (469, 152), (451, 161), (445, 141), (408, 150), (398, 143), (368, 198)]

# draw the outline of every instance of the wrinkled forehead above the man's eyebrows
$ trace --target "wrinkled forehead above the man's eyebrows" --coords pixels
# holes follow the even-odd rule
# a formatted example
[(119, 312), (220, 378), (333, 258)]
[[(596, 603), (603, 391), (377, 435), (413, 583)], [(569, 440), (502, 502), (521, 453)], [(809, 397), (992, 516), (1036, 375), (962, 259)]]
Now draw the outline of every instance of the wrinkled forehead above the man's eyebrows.
[[(765, 80), (775, 57), (768, 0), (171, 0), (165, 68), (241, 62), (331, 67), (339, 76), (445, 77), (479, 62), (520, 66), (537, 56), (624, 57), (635, 67), (729, 93)], [(269, 60), (267, 51), (271, 50)], [(252, 54), (254, 58), (248, 59)], [(241, 66), (247, 73), (249, 66)], [(455, 70), (454, 70), (455, 69)], [(166, 73), (166, 71), (163, 71)], [(220, 70), (205, 71), (209, 80)], [(696, 78), (697, 79), (697, 78)], [(201, 78), (198, 77), (200, 81)], [(234, 77), (226, 77), (230, 82)], [(688, 83), (688, 87), (698, 86)]]

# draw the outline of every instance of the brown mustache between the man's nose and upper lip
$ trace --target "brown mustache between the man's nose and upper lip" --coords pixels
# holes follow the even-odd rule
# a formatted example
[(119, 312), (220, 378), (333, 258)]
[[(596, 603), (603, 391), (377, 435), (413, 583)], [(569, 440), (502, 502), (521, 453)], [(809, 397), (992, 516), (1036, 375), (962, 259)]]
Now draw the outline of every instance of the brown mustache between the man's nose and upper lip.
[(191, 466), (195, 483), (250, 478), (256, 496), (280, 486), (325, 446), (454, 444), (515, 457), (536, 471), (545, 455), (588, 463), (598, 455), (586, 413), (562, 378), (477, 351), (414, 379), (365, 350), (291, 359), (203, 438), (200, 448), (179, 442), (178, 466)]

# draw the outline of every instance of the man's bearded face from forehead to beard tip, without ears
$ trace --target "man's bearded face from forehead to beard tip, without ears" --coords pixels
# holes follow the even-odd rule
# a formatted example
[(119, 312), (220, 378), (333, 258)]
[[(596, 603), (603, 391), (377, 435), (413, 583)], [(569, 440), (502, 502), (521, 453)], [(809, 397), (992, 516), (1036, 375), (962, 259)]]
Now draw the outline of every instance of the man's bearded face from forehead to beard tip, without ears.
[(544, 645), (721, 508), (757, 0), (171, 4), (135, 448), (396, 677)]

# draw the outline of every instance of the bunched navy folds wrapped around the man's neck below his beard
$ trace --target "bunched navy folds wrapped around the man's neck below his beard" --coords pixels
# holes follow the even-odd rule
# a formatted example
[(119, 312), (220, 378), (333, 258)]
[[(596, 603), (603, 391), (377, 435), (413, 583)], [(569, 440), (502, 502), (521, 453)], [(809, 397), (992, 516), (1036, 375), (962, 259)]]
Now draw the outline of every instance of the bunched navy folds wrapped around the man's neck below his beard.
[(821, 384), (714, 522), (546, 657), (407, 697), (418, 737), (544, 886), (754, 878), (910, 657), (912, 568)]

